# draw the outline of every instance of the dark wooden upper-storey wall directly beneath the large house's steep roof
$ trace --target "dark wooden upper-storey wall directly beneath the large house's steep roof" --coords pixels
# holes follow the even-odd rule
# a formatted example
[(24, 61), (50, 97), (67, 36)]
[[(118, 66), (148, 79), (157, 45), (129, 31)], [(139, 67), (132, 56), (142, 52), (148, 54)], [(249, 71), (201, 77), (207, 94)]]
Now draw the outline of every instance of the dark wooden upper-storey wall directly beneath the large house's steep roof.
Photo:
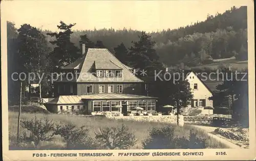
[[(87, 86), (92, 86), (92, 93), (87, 93)], [(113, 93), (117, 93), (117, 85), (123, 86), (123, 94), (144, 95), (145, 87), (142, 83), (78, 83), (77, 95), (90, 95), (99, 93), (99, 85), (104, 85), (104, 93), (108, 93), (108, 85), (113, 85)]]

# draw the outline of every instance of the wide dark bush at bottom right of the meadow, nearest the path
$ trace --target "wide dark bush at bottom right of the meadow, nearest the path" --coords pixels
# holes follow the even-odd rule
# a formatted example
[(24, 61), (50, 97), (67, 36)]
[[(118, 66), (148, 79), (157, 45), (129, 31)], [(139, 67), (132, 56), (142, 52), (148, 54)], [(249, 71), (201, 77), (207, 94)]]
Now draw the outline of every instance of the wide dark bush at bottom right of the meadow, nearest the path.
[(189, 139), (174, 135), (173, 127), (153, 127), (150, 137), (142, 143), (144, 149), (204, 149), (207, 147), (206, 139), (196, 136), (190, 130)]

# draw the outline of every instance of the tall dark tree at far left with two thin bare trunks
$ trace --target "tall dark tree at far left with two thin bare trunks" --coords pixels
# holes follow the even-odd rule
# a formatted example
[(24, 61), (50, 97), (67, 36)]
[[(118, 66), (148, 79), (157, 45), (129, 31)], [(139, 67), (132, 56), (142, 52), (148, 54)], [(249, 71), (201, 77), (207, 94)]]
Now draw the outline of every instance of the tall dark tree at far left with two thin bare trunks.
[[(28, 73), (33, 73), (33, 77), (28, 77), (29, 80), (26, 80), (30, 94), (31, 84), (28, 81), (36, 81), (36, 83), (38, 83), (42, 73), (46, 73), (50, 48), (48, 47), (45, 36), (30, 24), (23, 24), (17, 31), (17, 49), (20, 63), (19, 71), (25, 72), (27, 76), (29, 76)], [(40, 82), (39, 97), (41, 98)]]

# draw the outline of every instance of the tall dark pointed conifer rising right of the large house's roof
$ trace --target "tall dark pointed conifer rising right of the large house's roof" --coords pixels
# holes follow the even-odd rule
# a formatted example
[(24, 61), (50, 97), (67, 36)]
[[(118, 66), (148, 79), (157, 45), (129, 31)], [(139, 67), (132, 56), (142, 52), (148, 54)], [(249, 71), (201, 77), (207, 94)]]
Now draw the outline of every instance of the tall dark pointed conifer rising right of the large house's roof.
[(148, 75), (154, 73), (154, 70), (161, 69), (162, 64), (158, 62), (159, 57), (154, 49), (155, 41), (145, 32), (138, 36), (139, 41), (133, 42), (130, 47), (129, 62), (136, 69), (146, 70)]

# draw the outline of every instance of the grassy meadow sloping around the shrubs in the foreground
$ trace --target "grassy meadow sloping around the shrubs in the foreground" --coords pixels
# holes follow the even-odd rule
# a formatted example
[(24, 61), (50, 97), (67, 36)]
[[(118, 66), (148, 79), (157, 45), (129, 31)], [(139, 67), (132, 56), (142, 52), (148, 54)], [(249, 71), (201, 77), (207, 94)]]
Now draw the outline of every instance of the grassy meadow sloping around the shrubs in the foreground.
[[(201, 129), (191, 127), (189, 125), (184, 125), (179, 127), (176, 125), (171, 125), (167, 123), (158, 123), (158, 122), (135, 122), (135, 121), (121, 121), (121, 120), (112, 120), (105, 117), (92, 117), (92, 116), (76, 116), (76, 115), (58, 115), (58, 114), (31, 114), (31, 113), (22, 113), (21, 119), (31, 120), (34, 116), (37, 118), (48, 118), (54, 120), (56, 124), (67, 124), (73, 123), (77, 127), (86, 126), (90, 129), (91, 137), (94, 137), (94, 131), (100, 127), (111, 127), (111, 126), (121, 126), (122, 124), (127, 125), (130, 129), (134, 131), (134, 134), (137, 139), (137, 144), (134, 145), (131, 149), (142, 149), (142, 141), (145, 140), (149, 132), (148, 130), (151, 127), (166, 127), (166, 126), (175, 126), (175, 135), (188, 137), (190, 129), (193, 132), (196, 132), (198, 136), (207, 139), (208, 148), (226, 148), (222, 143), (217, 142), (215, 139), (210, 138), (207, 134)], [(17, 133), (17, 112), (9, 112), (9, 148), (14, 149), (14, 142), (16, 141)], [(27, 129), (20, 127), (20, 133), (28, 132)], [(63, 149), (65, 148), (65, 143), (62, 141), (61, 137), (56, 136), (51, 142), (40, 143), (39, 149)]]

